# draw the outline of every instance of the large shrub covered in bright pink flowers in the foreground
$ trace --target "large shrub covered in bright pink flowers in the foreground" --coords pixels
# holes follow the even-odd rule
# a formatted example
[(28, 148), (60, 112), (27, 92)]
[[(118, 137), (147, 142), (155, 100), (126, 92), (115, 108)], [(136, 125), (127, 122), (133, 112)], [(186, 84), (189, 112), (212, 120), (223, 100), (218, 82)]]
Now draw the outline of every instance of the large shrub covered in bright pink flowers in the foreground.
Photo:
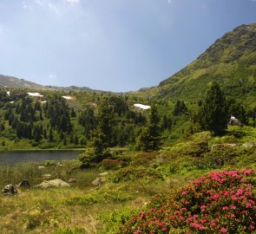
[[(253, 170), (210, 172), (174, 195), (154, 198), (118, 233), (252, 233), (256, 225)], [(174, 232), (172, 232), (174, 233)]]

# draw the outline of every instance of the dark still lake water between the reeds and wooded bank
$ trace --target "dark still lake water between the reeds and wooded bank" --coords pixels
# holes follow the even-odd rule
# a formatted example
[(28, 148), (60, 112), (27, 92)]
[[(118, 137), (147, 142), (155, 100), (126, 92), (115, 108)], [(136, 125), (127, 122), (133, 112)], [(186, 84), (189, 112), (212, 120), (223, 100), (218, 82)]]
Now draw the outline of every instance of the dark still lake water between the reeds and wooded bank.
[(44, 160), (78, 159), (83, 151), (26, 151), (0, 152), (0, 165), (14, 165), (20, 162), (41, 162)]

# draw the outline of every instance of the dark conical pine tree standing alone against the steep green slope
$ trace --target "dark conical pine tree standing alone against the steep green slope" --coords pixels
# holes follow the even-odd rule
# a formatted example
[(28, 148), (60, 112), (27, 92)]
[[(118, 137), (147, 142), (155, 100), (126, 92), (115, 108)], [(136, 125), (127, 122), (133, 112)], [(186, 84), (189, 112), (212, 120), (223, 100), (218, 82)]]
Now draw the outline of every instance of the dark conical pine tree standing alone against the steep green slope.
[(204, 130), (220, 135), (227, 127), (228, 117), (225, 96), (222, 94), (220, 86), (213, 82), (200, 108), (200, 125)]

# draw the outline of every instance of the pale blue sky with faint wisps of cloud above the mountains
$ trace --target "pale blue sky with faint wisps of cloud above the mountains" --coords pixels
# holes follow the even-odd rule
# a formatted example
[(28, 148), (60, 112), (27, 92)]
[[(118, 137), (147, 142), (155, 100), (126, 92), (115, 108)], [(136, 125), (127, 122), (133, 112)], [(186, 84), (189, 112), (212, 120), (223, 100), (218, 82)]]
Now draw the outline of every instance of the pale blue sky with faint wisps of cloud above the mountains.
[(255, 22), (256, 0), (1, 0), (0, 74), (137, 90)]

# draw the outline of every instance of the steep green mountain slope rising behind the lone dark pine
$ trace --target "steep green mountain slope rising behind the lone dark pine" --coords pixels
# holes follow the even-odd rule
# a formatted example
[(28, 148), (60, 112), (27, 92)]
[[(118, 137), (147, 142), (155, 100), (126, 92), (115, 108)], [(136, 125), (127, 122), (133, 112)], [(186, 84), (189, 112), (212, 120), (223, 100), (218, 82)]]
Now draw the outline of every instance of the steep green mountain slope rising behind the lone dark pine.
[(256, 23), (226, 33), (158, 87), (140, 91), (159, 99), (199, 100), (212, 81), (217, 81), (227, 95), (255, 103)]

